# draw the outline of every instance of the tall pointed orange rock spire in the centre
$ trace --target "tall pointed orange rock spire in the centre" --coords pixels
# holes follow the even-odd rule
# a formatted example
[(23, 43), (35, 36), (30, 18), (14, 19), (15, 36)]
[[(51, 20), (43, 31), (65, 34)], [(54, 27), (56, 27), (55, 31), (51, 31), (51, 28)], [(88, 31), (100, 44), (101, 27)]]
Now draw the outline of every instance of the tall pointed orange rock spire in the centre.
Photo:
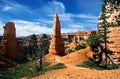
[(61, 28), (60, 28), (60, 21), (58, 14), (56, 14), (54, 17), (53, 31), (54, 33), (52, 35), (52, 40), (50, 42), (49, 54), (63, 56), (65, 52), (65, 48), (61, 35)]

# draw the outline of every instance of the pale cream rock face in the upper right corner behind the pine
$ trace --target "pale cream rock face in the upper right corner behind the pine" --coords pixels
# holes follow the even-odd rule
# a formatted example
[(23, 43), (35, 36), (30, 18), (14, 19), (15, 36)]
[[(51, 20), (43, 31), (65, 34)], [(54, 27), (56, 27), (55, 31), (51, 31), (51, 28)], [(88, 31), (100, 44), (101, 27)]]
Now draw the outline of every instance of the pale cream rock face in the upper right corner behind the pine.
[[(107, 17), (106, 20), (110, 26), (116, 26), (120, 25), (120, 1), (119, 0), (106, 0), (107, 5), (105, 6), (105, 16)], [(101, 17), (102, 12), (100, 13)], [(102, 22), (101, 19), (99, 19), (99, 27), (100, 23)]]

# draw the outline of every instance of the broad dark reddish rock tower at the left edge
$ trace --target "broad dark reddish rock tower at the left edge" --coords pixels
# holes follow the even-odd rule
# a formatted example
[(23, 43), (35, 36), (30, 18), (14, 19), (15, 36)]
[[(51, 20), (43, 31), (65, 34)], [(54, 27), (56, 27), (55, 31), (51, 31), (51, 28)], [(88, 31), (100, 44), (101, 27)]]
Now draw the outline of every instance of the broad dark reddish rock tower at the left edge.
[(13, 22), (8, 22), (3, 28), (4, 34), (0, 44), (0, 55), (14, 59), (18, 55), (15, 25)]

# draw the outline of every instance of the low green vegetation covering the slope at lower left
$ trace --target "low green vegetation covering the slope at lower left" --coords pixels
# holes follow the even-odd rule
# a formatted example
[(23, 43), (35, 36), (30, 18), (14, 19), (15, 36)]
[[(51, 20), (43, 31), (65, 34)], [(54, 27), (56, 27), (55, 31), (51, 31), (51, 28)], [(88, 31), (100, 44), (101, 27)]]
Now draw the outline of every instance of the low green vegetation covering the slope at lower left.
[(49, 62), (43, 62), (42, 71), (37, 71), (38, 67), (36, 66), (39, 66), (39, 63), (36, 62), (36, 60), (34, 60), (25, 64), (20, 64), (10, 69), (9, 71), (4, 72), (2, 76), (0, 76), (0, 79), (20, 79), (23, 77), (29, 79), (31, 77), (44, 74), (45, 72), (50, 70), (65, 68), (65, 65), (62, 63), (58, 63), (52, 67), (48, 67), (49, 65), (50, 65)]

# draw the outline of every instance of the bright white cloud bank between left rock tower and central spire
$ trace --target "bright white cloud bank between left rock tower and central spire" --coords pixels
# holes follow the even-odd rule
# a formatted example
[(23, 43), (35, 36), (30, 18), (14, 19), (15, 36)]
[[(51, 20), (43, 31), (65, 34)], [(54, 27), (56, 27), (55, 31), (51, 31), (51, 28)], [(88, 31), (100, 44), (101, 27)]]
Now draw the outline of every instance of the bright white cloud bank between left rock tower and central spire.
[(41, 26), (38, 22), (25, 20), (11, 20), (15, 23), (17, 36), (28, 36), (30, 34), (52, 33), (52, 28)]

